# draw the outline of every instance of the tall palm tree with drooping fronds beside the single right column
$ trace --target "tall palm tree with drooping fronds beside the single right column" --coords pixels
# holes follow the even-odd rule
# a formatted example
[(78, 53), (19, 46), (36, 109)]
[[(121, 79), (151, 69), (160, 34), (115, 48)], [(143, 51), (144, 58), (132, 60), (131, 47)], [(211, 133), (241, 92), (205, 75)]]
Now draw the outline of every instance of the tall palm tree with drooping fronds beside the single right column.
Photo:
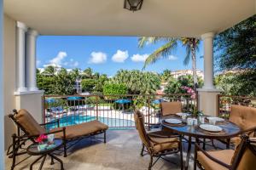
[(190, 58), (192, 59), (192, 71), (194, 88), (197, 88), (197, 75), (196, 75), (196, 51), (199, 49), (198, 45), (200, 40), (195, 37), (140, 37), (138, 47), (143, 48), (146, 44), (155, 44), (157, 42), (165, 42), (160, 48), (156, 49), (152, 54), (145, 60), (143, 69), (149, 64), (154, 64), (158, 59), (168, 58), (172, 51), (177, 48), (178, 42), (182, 42), (183, 47), (186, 48), (186, 56), (183, 60), (184, 65), (189, 64)]

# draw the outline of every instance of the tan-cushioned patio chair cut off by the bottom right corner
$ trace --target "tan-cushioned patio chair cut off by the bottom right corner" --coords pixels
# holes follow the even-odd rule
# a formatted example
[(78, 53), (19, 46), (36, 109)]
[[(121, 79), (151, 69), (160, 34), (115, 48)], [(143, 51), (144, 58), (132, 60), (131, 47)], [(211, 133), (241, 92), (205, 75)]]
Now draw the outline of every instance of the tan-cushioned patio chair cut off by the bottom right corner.
[(243, 134), (236, 150), (205, 151), (195, 144), (194, 169), (196, 165), (205, 170), (253, 170), (256, 167), (256, 140)]

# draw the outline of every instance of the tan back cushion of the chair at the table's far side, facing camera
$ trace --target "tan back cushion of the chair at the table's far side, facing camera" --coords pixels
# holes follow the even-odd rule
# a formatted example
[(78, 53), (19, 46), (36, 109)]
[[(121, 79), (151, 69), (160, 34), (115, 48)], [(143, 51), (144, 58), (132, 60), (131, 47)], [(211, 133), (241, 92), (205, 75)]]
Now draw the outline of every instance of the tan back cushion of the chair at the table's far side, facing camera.
[(162, 116), (168, 116), (182, 112), (181, 102), (161, 102), (161, 114)]

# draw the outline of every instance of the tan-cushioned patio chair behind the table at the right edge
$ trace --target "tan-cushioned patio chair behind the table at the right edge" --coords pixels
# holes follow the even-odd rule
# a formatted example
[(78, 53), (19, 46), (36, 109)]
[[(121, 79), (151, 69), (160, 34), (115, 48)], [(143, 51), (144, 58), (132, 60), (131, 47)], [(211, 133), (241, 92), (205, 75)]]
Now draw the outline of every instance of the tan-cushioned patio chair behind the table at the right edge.
[[(234, 122), (237, 126), (241, 127), (243, 133), (247, 133), (250, 136), (256, 135), (256, 131), (253, 130), (256, 127), (256, 108), (243, 105), (231, 105), (229, 121)], [(227, 148), (230, 148), (230, 144), (236, 145), (240, 143), (240, 140), (239, 137), (235, 137), (220, 141), (226, 144)]]

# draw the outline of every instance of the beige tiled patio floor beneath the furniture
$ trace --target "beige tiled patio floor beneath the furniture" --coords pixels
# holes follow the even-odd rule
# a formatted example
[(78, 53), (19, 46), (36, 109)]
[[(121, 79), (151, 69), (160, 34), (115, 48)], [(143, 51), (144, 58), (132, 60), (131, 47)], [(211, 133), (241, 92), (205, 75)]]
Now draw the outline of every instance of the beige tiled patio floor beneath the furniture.
[[(65, 169), (79, 170), (143, 170), (148, 169), (149, 156), (140, 156), (141, 141), (135, 129), (132, 130), (108, 130), (108, 142), (103, 144), (93, 139), (80, 141), (69, 152), (69, 156), (64, 158), (58, 156), (64, 162)], [(183, 144), (186, 147), (186, 144)], [(183, 154), (183, 161), (186, 154)], [(32, 156), (15, 167), (15, 169), (29, 169), (30, 164), (37, 156)], [(179, 155), (168, 156), (172, 162), (160, 160), (153, 169), (180, 169)], [(21, 159), (21, 158), (20, 158)], [(20, 160), (19, 159), (19, 160)], [(10, 169), (11, 159), (6, 158), (6, 169)], [(39, 164), (34, 166), (38, 169)], [(189, 169), (193, 169), (191, 160)], [(49, 165), (49, 159), (45, 161), (43, 169), (60, 169), (58, 162)]]

